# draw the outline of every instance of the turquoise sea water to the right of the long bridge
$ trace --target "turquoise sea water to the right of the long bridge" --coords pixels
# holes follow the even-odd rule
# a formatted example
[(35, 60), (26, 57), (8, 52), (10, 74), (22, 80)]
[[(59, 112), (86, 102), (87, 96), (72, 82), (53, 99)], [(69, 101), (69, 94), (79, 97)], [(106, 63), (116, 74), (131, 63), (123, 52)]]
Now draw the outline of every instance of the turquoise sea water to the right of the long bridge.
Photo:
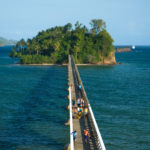
[(150, 47), (117, 53), (121, 65), (80, 67), (108, 150), (150, 149)]

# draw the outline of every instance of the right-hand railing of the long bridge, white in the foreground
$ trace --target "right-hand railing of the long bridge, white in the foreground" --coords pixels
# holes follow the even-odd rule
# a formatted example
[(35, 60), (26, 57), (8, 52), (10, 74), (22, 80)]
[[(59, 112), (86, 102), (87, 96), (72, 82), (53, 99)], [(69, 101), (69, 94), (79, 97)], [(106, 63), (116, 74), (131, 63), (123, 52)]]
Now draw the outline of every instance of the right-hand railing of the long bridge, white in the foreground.
[[(73, 59), (73, 57), (72, 57)], [(73, 61), (74, 62), (74, 61)], [(91, 118), (92, 120), (92, 126), (94, 127), (94, 133), (96, 134), (96, 137), (97, 137), (97, 144), (98, 144), (98, 147), (100, 150), (106, 150), (105, 148), (105, 145), (104, 145), (104, 142), (103, 142), (103, 139), (102, 139), (102, 136), (101, 136), (101, 133), (100, 133), (100, 130), (98, 128), (98, 125), (97, 125), (97, 122), (95, 120), (95, 117), (94, 117), (94, 113), (92, 111), (92, 107), (89, 103), (89, 100), (88, 100), (88, 97), (86, 95), (86, 92), (85, 92), (85, 89), (84, 89), (84, 86), (83, 86), (83, 83), (82, 83), (82, 80), (81, 80), (81, 77), (80, 77), (80, 74), (78, 72), (78, 69), (77, 69), (77, 66), (75, 65), (74, 63), (74, 67), (75, 67), (75, 72), (77, 74), (77, 78), (78, 78), (78, 81), (79, 81), (79, 84), (81, 85), (81, 91), (82, 91), (82, 94), (83, 94), (83, 97), (84, 97), (84, 100), (86, 101), (87, 103), (87, 107), (89, 109), (89, 117)]]

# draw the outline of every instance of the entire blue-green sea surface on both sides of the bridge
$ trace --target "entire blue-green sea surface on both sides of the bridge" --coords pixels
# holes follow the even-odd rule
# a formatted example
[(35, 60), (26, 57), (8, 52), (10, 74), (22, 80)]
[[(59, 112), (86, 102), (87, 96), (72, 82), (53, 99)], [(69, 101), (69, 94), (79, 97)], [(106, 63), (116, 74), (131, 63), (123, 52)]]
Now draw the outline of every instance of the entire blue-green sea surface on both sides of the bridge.
[[(22, 66), (0, 47), (0, 150), (61, 150), (69, 142), (67, 68)], [(150, 47), (79, 72), (107, 150), (150, 150)]]

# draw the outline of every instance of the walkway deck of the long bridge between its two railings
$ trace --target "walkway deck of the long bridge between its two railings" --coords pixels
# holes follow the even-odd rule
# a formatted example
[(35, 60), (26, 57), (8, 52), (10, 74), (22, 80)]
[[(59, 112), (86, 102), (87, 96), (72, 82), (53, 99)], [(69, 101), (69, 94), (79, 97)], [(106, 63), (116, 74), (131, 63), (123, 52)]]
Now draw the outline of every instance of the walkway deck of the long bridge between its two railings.
[[(79, 90), (78, 85), (80, 84), (80, 77), (78, 75), (78, 70), (74, 64), (73, 58), (70, 56), (68, 64), (68, 79), (69, 85), (72, 93), (72, 100), (75, 100), (75, 107), (78, 98), (84, 98), (85, 107), (88, 107), (88, 102), (86, 101), (83, 91)], [(83, 86), (83, 85), (82, 85)], [(84, 142), (84, 129), (88, 129), (90, 133), (90, 138), (88, 137), (87, 144)], [(73, 119), (73, 130), (77, 131), (77, 139), (74, 144), (75, 150), (99, 150), (97, 136), (93, 128), (93, 122), (91, 120), (90, 114), (87, 118), (83, 115), (81, 119)]]

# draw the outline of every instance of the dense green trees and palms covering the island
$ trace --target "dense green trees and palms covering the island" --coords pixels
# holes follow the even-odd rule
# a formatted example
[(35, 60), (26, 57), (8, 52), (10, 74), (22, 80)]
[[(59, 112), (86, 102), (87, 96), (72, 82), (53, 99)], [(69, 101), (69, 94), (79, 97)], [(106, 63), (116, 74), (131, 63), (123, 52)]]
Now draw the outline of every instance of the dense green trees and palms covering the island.
[(91, 29), (76, 22), (41, 31), (33, 39), (21, 39), (12, 48), (11, 57), (19, 57), (23, 64), (67, 63), (72, 54), (76, 63), (98, 63), (114, 51), (113, 39), (105, 22), (94, 19)]

